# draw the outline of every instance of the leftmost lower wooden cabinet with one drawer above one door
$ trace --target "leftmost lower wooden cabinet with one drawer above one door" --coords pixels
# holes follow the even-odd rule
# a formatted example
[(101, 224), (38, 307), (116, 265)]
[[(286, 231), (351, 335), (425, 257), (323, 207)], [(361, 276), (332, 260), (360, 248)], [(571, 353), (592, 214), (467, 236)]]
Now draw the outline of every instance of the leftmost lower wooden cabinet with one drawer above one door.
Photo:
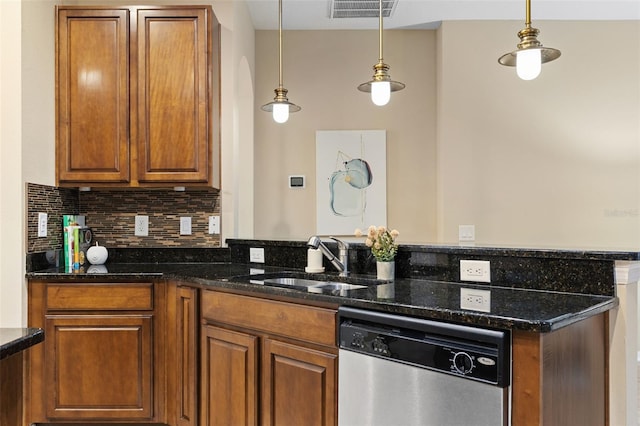
[(29, 283), (26, 424), (164, 422), (164, 286)]

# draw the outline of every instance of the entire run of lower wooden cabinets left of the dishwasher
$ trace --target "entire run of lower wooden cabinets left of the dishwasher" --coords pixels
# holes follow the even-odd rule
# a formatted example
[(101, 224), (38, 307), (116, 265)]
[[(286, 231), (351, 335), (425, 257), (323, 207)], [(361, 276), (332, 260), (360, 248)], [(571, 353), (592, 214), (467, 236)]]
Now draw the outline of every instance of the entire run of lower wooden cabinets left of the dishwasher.
[[(336, 307), (337, 308), (337, 307)], [(26, 423), (336, 425), (336, 309), (180, 282), (29, 282)]]

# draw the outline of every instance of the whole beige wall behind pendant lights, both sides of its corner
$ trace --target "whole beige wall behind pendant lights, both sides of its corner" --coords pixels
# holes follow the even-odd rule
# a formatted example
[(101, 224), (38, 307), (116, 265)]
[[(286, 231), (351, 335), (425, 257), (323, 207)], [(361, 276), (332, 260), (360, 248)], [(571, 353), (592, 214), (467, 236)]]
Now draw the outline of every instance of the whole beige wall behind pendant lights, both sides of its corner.
[[(640, 248), (640, 25), (536, 26), (563, 54), (530, 82), (497, 63), (521, 22), (386, 31), (407, 88), (381, 108), (355, 90), (377, 33), (285, 31), (284, 86), (303, 110), (284, 125), (259, 111), (277, 86), (277, 33), (257, 32), (256, 237), (314, 233), (314, 132), (364, 128), (388, 130), (388, 225), (403, 242), (457, 243), (473, 224), (478, 245)], [(296, 173), (306, 190), (287, 189)]]

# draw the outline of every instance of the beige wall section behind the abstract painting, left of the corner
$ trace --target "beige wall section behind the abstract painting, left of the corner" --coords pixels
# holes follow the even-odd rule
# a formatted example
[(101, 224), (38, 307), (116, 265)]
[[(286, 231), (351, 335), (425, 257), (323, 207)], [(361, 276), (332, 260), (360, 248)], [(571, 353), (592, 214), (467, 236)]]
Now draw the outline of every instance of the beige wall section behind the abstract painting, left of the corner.
[[(278, 85), (278, 38), (257, 31), (255, 236), (304, 240), (315, 233), (316, 130), (386, 129), (388, 226), (405, 240), (434, 240), (435, 32), (385, 32), (391, 77), (407, 85), (385, 107), (357, 90), (373, 75), (376, 31), (284, 31), (283, 37), (284, 87), (302, 111), (279, 125), (259, 110)], [(292, 174), (306, 176), (305, 189), (288, 189)]]

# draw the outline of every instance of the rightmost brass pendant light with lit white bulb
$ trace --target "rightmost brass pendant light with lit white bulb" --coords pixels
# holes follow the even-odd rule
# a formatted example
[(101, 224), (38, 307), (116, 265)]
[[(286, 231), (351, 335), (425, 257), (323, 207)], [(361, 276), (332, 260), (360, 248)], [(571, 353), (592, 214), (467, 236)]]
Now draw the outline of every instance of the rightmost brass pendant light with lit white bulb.
[(527, 16), (524, 29), (518, 32), (520, 43), (518, 50), (502, 55), (498, 62), (509, 67), (516, 67), (518, 77), (533, 80), (542, 70), (542, 64), (558, 59), (560, 51), (551, 47), (543, 47), (538, 41), (537, 28), (531, 26), (531, 0), (527, 1)]

